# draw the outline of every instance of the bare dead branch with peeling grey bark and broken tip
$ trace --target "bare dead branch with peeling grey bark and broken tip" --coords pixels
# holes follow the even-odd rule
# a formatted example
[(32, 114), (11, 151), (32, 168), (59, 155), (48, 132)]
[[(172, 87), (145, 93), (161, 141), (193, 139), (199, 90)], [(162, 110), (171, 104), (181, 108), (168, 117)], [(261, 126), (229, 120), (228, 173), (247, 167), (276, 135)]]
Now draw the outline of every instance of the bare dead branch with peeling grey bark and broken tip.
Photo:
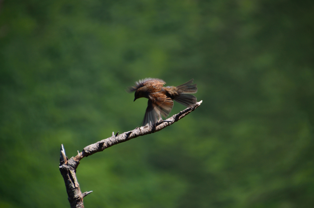
[(173, 123), (177, 122), (181, 118), (185, 117), (190, 112), (194, 111), (197, 107), (201, 105), (202, 101), (199, 101), (196, 103), (194, 107), (189, 107), (181, 112), (179, 112), (176, 115), (173, 115), (172, 117), (159, 121), (156, 123), (156, 125), (152, 128), (136, 128), (132, 131), (124, 132), (122, 134), (119, 134), (117, 132), (114, 134), (112, 132), (112, 136), (98, 141), (95, 144), (88, 145), (84, 147), (82, 152), (79, 152), (77, 156), (71, 157), (68, 159), (68, 157), (65, 154), (64, 147), (61, 145), (60, 149), (60, 164), (59, 164), (59, 170), (61, 172), (61, 175), (64, 179), (64, 183), (67, 189), (68, 193), (68, 200), (70, 202), (71, 208), (84, 208), (83, 204), (83, 198), (90, 194), (92, 191), (89, 192), (81, 192), (81, 189), (79, 188), (79, 184), (76, 178), (76, 168), (78, 167), (79, 161), (87, 157), (89, 155), (95, 154), (96, 152), (101, 152), (105, 150), (108, 147), (111, 147), (112, 145), (116, 145), (125, 141), (128, 141), (130, 139), (143, 136), (146, 134), (152, 134), (154, 132), (160, 131), (161, 129), (166, 128), (167, 126), (172, 125)]

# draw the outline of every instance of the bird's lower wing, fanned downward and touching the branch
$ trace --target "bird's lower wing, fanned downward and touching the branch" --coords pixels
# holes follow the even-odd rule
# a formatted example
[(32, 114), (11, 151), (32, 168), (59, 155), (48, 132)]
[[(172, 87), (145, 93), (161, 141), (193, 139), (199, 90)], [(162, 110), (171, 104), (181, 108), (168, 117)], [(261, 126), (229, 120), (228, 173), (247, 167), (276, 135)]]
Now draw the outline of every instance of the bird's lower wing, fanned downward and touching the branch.
[(173, 101), (167, 97), (163, 91), (151, 93), (148, 99), (143, 126), (154, 125), (158, 120), (161, 120), (161, 115), (167, 117), (173, 107)]

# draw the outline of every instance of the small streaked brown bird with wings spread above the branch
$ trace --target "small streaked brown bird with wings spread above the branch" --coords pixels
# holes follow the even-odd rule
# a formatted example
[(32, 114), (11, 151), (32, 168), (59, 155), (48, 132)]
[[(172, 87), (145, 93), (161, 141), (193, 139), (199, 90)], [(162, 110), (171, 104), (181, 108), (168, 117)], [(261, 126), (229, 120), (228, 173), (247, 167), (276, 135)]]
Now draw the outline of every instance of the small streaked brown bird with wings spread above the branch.
[(196, 104), (196, 97), (188, 93), (196, 93), (197, 85), (191, 85), (191, 79), (183, 85), (164, 87), (165, 81), (161, 79), (145, 78), (135, 82), (135, 86), (129, 88), (129, 92), (135, 91), (134, 101), (141, 97), (148, 98), (143, 126), (152, 127), (156, 122), (162, 120), (161, 115), (167, 117), (172, 110), (173, 100), (186, 107)]

